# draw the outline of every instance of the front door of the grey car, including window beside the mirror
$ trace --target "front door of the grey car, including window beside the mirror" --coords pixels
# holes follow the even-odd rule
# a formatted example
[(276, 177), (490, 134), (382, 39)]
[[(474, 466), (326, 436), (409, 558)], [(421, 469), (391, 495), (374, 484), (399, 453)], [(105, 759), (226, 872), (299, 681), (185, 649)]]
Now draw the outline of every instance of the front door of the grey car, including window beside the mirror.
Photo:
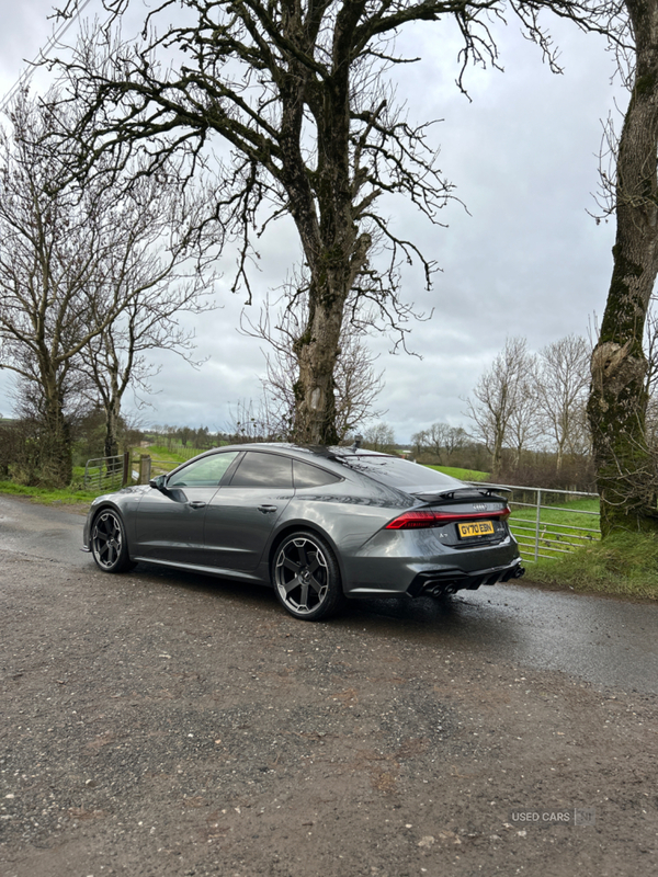
[(144, 559), (204, 566), (203, 523), (208, 504), (238, 451), (217, 452), (173, 472), (162, 490), (151, 488), (136, 515), (136, 550)]

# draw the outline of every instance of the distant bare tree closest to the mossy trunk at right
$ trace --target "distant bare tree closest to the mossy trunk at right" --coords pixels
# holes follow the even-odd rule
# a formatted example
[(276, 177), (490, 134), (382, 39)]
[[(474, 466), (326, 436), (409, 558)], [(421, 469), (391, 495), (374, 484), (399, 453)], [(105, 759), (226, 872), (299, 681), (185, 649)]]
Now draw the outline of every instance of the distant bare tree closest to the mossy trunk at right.
[(557, 471), (561, 469), (565, 453), (577, 453), (583, 444), (589, 360), (587, 341), (575, 334), (554, 341), (538, 354), (534, 392), (544, 429), (555, 443)]

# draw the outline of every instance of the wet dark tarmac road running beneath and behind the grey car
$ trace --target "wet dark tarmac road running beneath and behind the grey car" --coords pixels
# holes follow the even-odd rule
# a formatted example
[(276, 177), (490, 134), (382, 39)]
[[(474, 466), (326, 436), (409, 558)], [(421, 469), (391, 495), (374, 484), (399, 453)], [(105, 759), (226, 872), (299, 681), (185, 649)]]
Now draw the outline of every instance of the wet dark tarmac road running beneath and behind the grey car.
[[(0, 547), (35, 560), (93, 566), (80, 551), (82, 523), (81, 515), (61, 509), (0, 497)], [(180, 582), (182, 588), (217, 589), (213, 579), (147, 565), (134, 574)], [(271, 599), (273, 612), (280, 611), (264, 589), (223, 582), (222, 590), (247, 602)], [(444, 603), (354, 601), (331, 624), (426, 646), (436, 642), (486, 661), (560, 671), (595, 685), (658, 693), (658, 606), (646, 603), (495, 585)]]

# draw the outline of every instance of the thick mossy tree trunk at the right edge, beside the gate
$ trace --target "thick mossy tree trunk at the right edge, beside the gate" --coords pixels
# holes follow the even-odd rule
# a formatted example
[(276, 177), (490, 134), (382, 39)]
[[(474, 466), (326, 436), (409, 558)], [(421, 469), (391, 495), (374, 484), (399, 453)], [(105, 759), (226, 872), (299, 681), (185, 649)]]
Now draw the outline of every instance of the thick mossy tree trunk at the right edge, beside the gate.
[(658, 0), (626, 0), (626, 7), (637, 61), (617, 156), (614, 266), (588, 402), (603, 536), (658, 529), (643, 352), (658, 272)]

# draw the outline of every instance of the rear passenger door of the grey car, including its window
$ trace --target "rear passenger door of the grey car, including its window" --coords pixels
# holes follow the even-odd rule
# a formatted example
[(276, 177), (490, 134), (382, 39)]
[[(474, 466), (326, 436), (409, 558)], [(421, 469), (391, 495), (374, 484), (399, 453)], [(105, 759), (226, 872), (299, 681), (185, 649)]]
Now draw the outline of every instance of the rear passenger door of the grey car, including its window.
[(208, 503), (204, 521), (208, 563), (226, 570), (256, 569), (292, 498), (292, 458), (247, 451), (230, 481)]

